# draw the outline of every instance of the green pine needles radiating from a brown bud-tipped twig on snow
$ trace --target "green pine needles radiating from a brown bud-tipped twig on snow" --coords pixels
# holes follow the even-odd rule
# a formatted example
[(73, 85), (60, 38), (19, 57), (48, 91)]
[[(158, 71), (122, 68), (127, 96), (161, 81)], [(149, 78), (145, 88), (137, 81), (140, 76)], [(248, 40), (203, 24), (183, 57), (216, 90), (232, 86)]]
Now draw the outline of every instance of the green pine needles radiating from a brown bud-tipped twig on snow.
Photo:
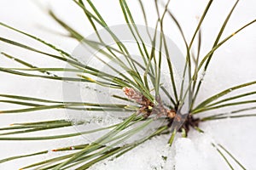
[[(140, 4), (140, 8), (138, 10), (142, 10), (143, 18), (145, 21), (145, 25), (148, 25), (147, 14), (145, 12), (145, 8), (143, 2), (141, 0), (137, 1)], [(65, 154), (64, 156), (56, 156), (55, 158), (51, 158), (48, 160), (40, 161), (34, 163), (32, 165), (28, 165), (26, 167), (22, 167), (21, 169), (68, 169), (75, 168), (78, 170), (86, 169), (96, 164), (99, 161), (109, 159), (109, 158), (117, 158), (122, 156), (129, 150), (134, 149), (139, 144), (143, 144), (148, 139), (152, 139), (157, 135), (161, 134), (169, 134), (170, 139), (166, 141), (166, 143), (172, 146), (172, 142), (175, 139), (177, 133), (182, 133), (184, 138), (187, 137), (187, 133), (189, 133), (189, 128), (195, 128), (195, 130), (199, 131), (199, 133), (203, 133), (203, 130), (200, 129), (199, 125), (201, 122), (207, 122), (218, 119), (225, 119), (227, 117), (243, 117), (243, 116), (255, 116), (253, 114), (244, 114), (245, 111), (251, 111), (256, 109), (256, 107), (246, 107), (241, 108), (240, 110), (231, 111), (227, 113), (219, 113), (211, 116), (203, 116), (202, 113), (206, 111), (215, 111), (224, 107), (230, 107), (234, 105), (247, 105), (253, 104), (256, 100), (240, 100), (236, 101), (236, 99), (242, 99), (247, 96), (251, 96), (256, 94), (255, 91), (247, 92), (239, 95), (231, 95), (234, 91), (247, 88), (249, 86), (253, 86), (256, 84), (254, 82), (246, 82), (239, 84), (235, 87), (230, 87), (224, 89), (218, 94), (212, 95), (211, 97), (204, 99), (201, 103), (197, 104), (196, 99), (198, 98), (198, 94), (201, 91), (201, 86), (203, 85), (203, 79), (201, 77), (201, 73), (207, 71), (208, 66), (212, 60), (214, 52), (220, 48), (225, 42), (228, 42), (231, 37), (235, 36), (236, 33), (242, 31), (247, 26), (252, 25), (256, 20), (252, 20), (247, 23), (245, 26), (242, 26), (238, 30), (234, 31), (234, 33), (230, 34), (228, 37), (222, 37), (225, 27), (227, 26), (228, 21), (230, 20), (230, 16), (236, 8), (238, 0), (233, 5), (230, 10), (230, 13), (226, 16), (221, 29), (218, 31), (218, 36), (216, 37), (212, 48), (209, 52), (201, 57), (201, 25), (204, 19), (207, 16), (209, 8), (211, 8), (212, 0), (207, 3), (207, 7), (204, 9), (203, 14), (201, 14), (201, 18), (198, 22), (198, 25), (195, 28), (193, 37), (190, 41), (187, 41), (184, 34), (183, 29), (180, 26), (176, 17), (172, 14), (169, 9), (170, 0), (167, 1), (166, 4), (160, 3), (155, 0), (155, 9), (157, 11), (158, 20), (156, 20), (155, 30), (160, 30), (160, 39), (156, 35), (151, 37), (151, 48), (146, 47), (146, 44), (143, 42), (143, 38), (140, 37), (140, 33), (137, 30), (137, 25), (134, 20), (133, 14), (131, 14), (131, 10), (129, 8), (128, 3), (125, 0), (119, 0), (120, 8), (123, 12), (125, 21), (127, 26), (134, 36), (135, 41), (137, 42), (137, 49), (140, 52), (140, 56), (143, 59), (143, 63), (137, 62), (136, 59), (132, 58), (129, 53), (129, 49), (125, 47), (125, 44), (119, 41), (119, 37), (115, 35), (115, 32), (109, 29), (108, 24), (104, 20), (104, 16), (101, 15), (101, 12), (97, 10), (94, 3), (90, 0), (73, 0), (73, 3), (77, 4), (78, 8), (84, 11), (84, 16), (87, 20), (90, 21), (90, 25), (97, 32), (100, 27), (106, 29), (109, 35), (113, 38), (115, 42), (116, 48), (110, 46), (102, 41), (101, 35), (97, 35), (99, 41), (90, 41), (83, 37), (78, 31), (72, 26), (68, 26), (67, 23), (61, 20), (52, 10), (49, 10), (49, 15), (60, 25), (62, 26), (68, 33), (69, 36), (78, 40), (79, 42), (84, 42), (86, 45), (91, 48), (95, 48), (99, 51), (102, 56), (107, 57), (108, 59), (112, 59), (115, 61), (115, 64), (118, 64), (121, 68), (123, 68), (126, 72), (125, 74), (115, 70), (111, 65), (108, 65), (110, 69), (115, 71), (119, 77), (115, 77), (114, 75), (98, 70), (95, 67), (91, 67), (89, 65), (84, 65), (79, 59), (76, 59), (73, 54), (69, 54), (65, 50), (61, 48), (55, 47), (55, 45), (44, 41), (41, 38), (33, 36), (27, 32), (20, 31), (12, 26), (9, 26), (5, 23), (0, 23), (0, 26), (5, 27), (11, 31), (15, 31), (16, 33), (20, 33), (26, 37), (32, 38), (34, 41), (41, 42), (48, 48), (55, 50), (56, 54), (50, 54), (45, 51), (41, 51), (38, 48), (33, 48), (32, 46), (26, 45), (24, 42), (13, 41), (6, 37), (0, 37), (1, 42), (5, 42), (10, 46), (16, 46), (19, 48), (24, 48), (28, 51), (31, 51), (36, 54), (42, 54), (44, 56), (48, 56), (52, 59), (58, 59), (61, 62), (70, 65), (72, 68), (41, 68), (36, 65), (32, 65), (25, 60), (19, 59), (11, 54), (7, 54), (2, 52), (2, 55), (9, 58), (14, 59), (15, 62), (23, 65), (24, 68), (0, 68), (0, 71), (6, 72), (9, 74), (18, 75), (20, 77), (40, 77), (44, 79), (50, 79), (55, 81), (66, 81), (66, 82), (82, 82), (84, 85), (86, 83), (95, 83), (99, 86), (105, 88), (116, 88), (123, 92), (124, 96), (112, 95), (109, 98), (120, 99), (124, 103), (124, 105), (119, 104), (99, 104), (99, 103), (84, 103), (84, 102), (63, 102), (63, 101), (55, 101), (49, 99), (38, 99), (28, 96), (19, 96), (19, 95), (10, 95), (10, 94), (0, 94), (2, 103), (9, 103), (14, 105), (22, 105), (26, 108), (17, 109), (17, 110), (4, 110), (0, 111), (1, 115), (3, 114), (21, 114), (32, 111), (46, 111), (53, 109), (60, 110), (77, 110), (77, 111), (133, 111), (133, 113), (127, 113), (125, 118), (122, 118), (123, 121), (117, 124), (111, 125), (109, 127), (101, 127), (90, 131), (84, 131), (81, 133), (67, 133), (61, 135), (54, 136), (38, 136), (38, 137), (26, 137), (19, 136), (15, 137), (15, 135), (22, 135), (23, 133), (32, 133), (32, 132), (41, 132), (50, 129), (61, 129), (64, 127), (73, 127), (73, 122), (68, 120), (52, 120), (47, 122), (24, 122), (24, 123), (13, 123), (10, 127), (1, 127), (0, 131), (0, 140), (46, 140), (46, 139), (67, 139), (85, 135), (88, 133), (96, 133), (96, 132), (105, 132), (100, 138), (88, 144), (79, 144), (73, 146), (67, 146), (65, 148), (59, 148), (52, 151), (61, 152), (61, 151), (70, 151), (69, 154)], [(163, 12), (160, 12), (160, 7), (164, 7)], [(171, 53), (168, 51), (168, 44), (166, 43), (166, 35), (164, 32), (164, 20), (166, 17), (170, 17), (173, 20), (173, 23), (177, 26), (178, 31), (182, 36), (182, 40), (186, 47), (186, 58), (183, 68), (183, 81), (177, 84), (175, 80), (175, 75), (173, 68), (175, 65), (172, 63)], [(195, 39), (198, 38), (198, 41), (195, 44)], [(155, 42), (160, 42), (160, 47), (155, 47)], [(197, 52), (193, 53), (192, 46), (196, 46)], [(102, 49), (102, 47), (104, 47)], [(156, 48), (160, 48), (160, 52), (155, 50)], [(100, 50), (101, 49), (101, 50)], [(118, 54), (125, 56), (125, 61), (119, 59)], [(166, 56), (165, 58), (163, 56)], [(103, 59), (102, 59), (103, 62)], [(169, 73), (169, 82), (171, 84), (171, 91), (167, 90), (164, 86), (162, 86), (161, 82), (161, 65), (162, 62), (166, 62), (168, 65), (167, 71)], [(156, 65), (156, 66), (155, 66)], [(140, 70), (140, 71), (139, 71)], [(35, 73), (35, 72), (38, 73)], [(58, 76), (58, 73), (65, 72), (73, 72), (76, 73), (77, 77), (61, 77)], [(65, 74), (64, 74), (65, 75)], [(97, 79), (93, 78), (97, 77)], [(177, 88), (179, 86), (179, 88)], [(179, 90), (178, 90), (179, 89)], [(166, 95), (168, 100), (161, 99), (162, 95)], [(127, 105), (127, 101), (131, 102)], [(187, 112), (183, 113), (183, 106), (189, 105), (189, 109)], [(86, 112), (84, 112), (86, 114)], [(200, 116), (197, 116), (200, 114)], [(196, 118), (195, 118), (196, 116)], [(161, 123), (165, 121), (166, 123)], [(141, 139), (136, 139), (133, 142), (126, 143), (124, 142), (127, 139), (131, 139), (137, 135), (137, 133), (143, 132), (143, 130), (150, 126), (153, 122), (160, 122), (161, 126), (154, 129), (149, 134), (145, 134), (145, 136)], [(84, 125), (84, 122), (76, 122), (76, 125)], [(180, 126), (179, 126), (180, 125)], [(237, 163), (242, 169), (245, 169), (241, 165), (239, 161), (236, 160), (234, 156), (230, 154), (228, 150), (224, 148), (221, 144), (212, 144), (213, 147), (218, 150), (220, 156), (224, 158), (224, 161), (227, 162), (230, 169), (234, 169), (231, 165), (229, 159), (232, 159)], [(22, 155), (22, 156), (14, 156), (9, 157), (3, 160), (0, 160), (0, 163), (6, 161), (13, 161), (15, 159), (20, 159), (23, 157), (29, 156), (38, 156), (47, 154), (49, 151), (44, 150), (37, 153), (32, 153), (30, 155)], [(226, 157), (226, 156), (229, 156)]]

